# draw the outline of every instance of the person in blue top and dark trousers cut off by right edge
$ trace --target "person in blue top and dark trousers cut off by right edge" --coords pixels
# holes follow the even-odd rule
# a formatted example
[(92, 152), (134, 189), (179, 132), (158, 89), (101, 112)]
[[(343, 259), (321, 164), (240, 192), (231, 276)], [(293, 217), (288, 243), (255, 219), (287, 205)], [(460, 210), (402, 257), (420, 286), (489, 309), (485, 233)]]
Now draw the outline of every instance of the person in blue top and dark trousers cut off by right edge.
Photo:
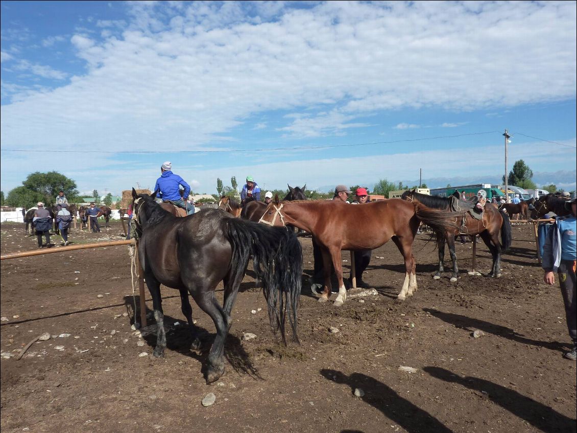
[(571, 208), (571, 215), (558, 216), (547, 232), (543, 247), (542, 267), (544, 281), (555, 283), (555, 272), (559, 275), (559, 286), (565, 304), (565, 319), (569, 337), (573, 340), (573, 350), (563, 356), (577, 360), (577, 293), (575, 290), (575, 266), (577, 264), (577, 197), (571, 197), (565, 207)]

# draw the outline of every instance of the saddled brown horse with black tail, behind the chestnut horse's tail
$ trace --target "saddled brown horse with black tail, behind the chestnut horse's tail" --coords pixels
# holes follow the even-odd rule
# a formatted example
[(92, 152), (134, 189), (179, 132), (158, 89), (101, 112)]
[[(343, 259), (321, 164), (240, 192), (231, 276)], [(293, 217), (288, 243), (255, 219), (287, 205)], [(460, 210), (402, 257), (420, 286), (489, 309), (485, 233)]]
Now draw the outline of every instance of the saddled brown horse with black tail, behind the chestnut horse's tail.
[[(439, 249), (439, 270), (434, 274), (434, 279), (441, 278), (441, 273), (444, 272), (443, 261), (445, 257), (445, 241), (449, 246), (449, 253), (453, 262), (453, 273), (449, 281), (456, 282), (459, 277), (459, 268), (457, 266), (457, 257), (455, 255), (455, 236), (457, 236), (462, 229), (464, 234), (469, 236), (481, 236), (487, 248), (493, 257), (493, 265), (489, 273), (489, 277), (501, 276), (501, 254), (511, 247), (511, 221), (507, 212), (497, 209), (492, 203), (485, 203), (482, 220), (473, 218), (467, 211), (471, 207), (468, 201), (457, 199), (456, 197), (437, 197), (427, 194), (421, 194), (413, 191), (405, 191), (401, 196), (402, 199), (422, 203), (425, 206), (434, 209), (450, 210), (453, 200), (457, 200), (457, 206), (462, 209), (459, 212), (460, 227), (451, 227), (446, 230), (435, 230), (437, 234), (437, 247)], [(474, 212), (474, 210), (473, 210)], [(501, 240), (499, 241), (499, 234)]]

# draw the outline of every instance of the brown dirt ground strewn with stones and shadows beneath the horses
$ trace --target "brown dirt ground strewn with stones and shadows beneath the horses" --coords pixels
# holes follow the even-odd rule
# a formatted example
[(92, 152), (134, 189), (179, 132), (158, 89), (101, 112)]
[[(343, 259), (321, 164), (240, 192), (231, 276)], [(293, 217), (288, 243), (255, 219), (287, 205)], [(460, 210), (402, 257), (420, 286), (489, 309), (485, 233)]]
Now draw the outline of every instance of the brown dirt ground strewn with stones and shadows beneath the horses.
[[(2, 255), (36, 249), (22, 224), (0, 229)], [(113, 222), (103, 233), (70, 239), (119, 240), (121, 233)], [(569, 337), (561, 294), (542, 282), (533, 226), (514, 224), (513, 233), (499, 279), (467, 275), (472, 244), (458, 244), (462, 274), (453, 285), (448, 272), (432, 279), (437, 251), (429, 234), (419, 234), (419, 287), (403, 303), (395, 300), (402, 256), (389, 242), (373, 251), (364, 277), (378, 294), (340, 308), (310, 294), (312, 245), (301, 238), (301, 344), (284, 347), (272, 334), (249, 271), (233, 309), (226, 373), (213, 385), (201, 371), (214, 338), (212, 320), (193, 304), (204, 348), (188, 350), (176, 290), (163, 288), (164, 359), (151, 356), (155, 335), (134, 335), (128, 247), (3, 260), (1, 430), (574, 432), (576, 364), (562, 357)], [(478, 245), (477, 267), (485, 274), (490, 255)], [(343, 265), (348, 276), (349, 261)], [(474, 338), (475, 330), (483, 335)], [(43, 333), (52, 337), (17, 361)], [(256, 338), (244, 341), (245, 333)], [(357, 397), (355, 389), (364, 394)], [(216, 401), (204, 407), (209, 393)]]

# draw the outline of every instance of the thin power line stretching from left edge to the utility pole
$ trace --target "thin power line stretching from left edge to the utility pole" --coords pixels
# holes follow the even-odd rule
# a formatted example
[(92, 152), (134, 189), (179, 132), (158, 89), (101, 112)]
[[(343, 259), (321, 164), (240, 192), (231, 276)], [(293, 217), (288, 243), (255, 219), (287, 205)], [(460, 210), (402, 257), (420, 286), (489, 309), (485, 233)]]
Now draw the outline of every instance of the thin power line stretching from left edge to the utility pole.
[(439, 139), (452, 139), (457, 137), (465, 137), (471, 135), (484, 135), (492, 134), (499, 131), (487, 131), (487, 132), (473, 132), (467, 134), (459, 135), (445, 135), (438, 137), (423, 137), (421, 139), (404, 139), (404, 140), (394, 140), (394, 141), (372, 141), (371, 143), (355, 143), (355, 144), (327, 144), (320, 146), (299, 146), (299, 147), (276, 147), (273, 149), (263, 148), (263, 149), (227, 149), (227, 150), (179, 150), (179, 151), (99, 151), (99, 150), (27, 150), (27, 149), (2, 149), (2, 152), (52, 152), (61, 154), (216, 154), (225, 152), (265, 152), (265, 151), (278, 151), (278, 150), (305, 150), (305, 149), (328, 149), (337, 147), (355, 147), (355, 146), (368, 146), (372, 144), (395, 144), (395, 143), (407, 143), (411, 141), (426, 141), (426, 140), (439, 140)]

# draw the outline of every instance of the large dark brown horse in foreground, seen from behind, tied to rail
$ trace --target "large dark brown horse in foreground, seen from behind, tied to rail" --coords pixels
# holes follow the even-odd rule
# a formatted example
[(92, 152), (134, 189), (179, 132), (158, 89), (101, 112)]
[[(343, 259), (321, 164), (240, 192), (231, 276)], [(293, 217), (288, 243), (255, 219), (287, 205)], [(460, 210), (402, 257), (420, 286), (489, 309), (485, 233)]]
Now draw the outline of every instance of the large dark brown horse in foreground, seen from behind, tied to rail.
[[(163, 284), (180, 292), (192, 349), (200, 348), (200, 339), (192, 320), (189, 293), (211, 317), (216, 338), (208, 356), (207, 383), (224, 374), (223, 350), (232, 324), (230, 312), (251, 256), (254, 273), (263, 282), (272, 330), (280, 331), (286, 344), (284, 330), (288, 316), (293, 339), (298, 342), (302, 249), (297, 237), (284, 227), (266, 227), (218, 209), (203, 209), (187, 218), (177, 218), (160, 207), (155, 196), (156, 192), (149, 196), (132, 190), (138, 257), (152, 295), (158, 328), (153, 356), (163, 357), (166, 348), (160, 296)], [(215, 297), (220, 281), (224, 283), (222, 307)]]

